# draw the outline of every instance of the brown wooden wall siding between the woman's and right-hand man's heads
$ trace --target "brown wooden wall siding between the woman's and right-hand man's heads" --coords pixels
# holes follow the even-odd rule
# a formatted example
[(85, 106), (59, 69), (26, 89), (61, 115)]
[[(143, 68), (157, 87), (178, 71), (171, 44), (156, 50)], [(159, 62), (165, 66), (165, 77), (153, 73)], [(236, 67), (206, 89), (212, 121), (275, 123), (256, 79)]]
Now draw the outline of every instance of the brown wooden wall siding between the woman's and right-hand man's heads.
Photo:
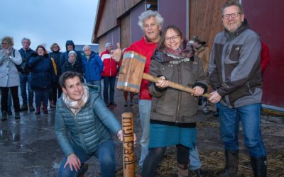
[(215, 35), (224, 30), (221, 7), (226, 0), (190, 0), (190, 38), (198, 35), (211, 48)]

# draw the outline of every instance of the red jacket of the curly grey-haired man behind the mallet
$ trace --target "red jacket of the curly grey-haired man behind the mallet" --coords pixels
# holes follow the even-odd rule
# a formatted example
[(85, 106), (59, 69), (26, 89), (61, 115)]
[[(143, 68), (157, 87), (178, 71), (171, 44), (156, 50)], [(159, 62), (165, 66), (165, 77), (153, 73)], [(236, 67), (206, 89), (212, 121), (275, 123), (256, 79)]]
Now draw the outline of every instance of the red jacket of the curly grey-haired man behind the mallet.
[[(149, 73), (151, 57), (155, 48), (157, 47), (157, 43), (155, 42), (147, 42), (146, 38), (143, 36), (141, 40), (134, 42), (130, 47), (128, 47), (125, 51), (134, 51), (146, 57), (146, 64), (144, 68), (145, 73)], [(141, 100), (152, 100), (152, 96), (149, 93), (148, 88), (149, 82), (145, 79), (142, 79), (141, 88), (139, 93), (139, 99)]]

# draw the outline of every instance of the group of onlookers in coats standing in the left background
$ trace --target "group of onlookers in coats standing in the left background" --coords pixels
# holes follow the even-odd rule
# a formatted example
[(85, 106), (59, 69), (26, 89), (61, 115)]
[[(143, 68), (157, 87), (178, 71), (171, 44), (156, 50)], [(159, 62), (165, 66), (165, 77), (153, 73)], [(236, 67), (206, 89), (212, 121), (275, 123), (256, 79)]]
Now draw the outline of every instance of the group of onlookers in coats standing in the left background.
[[(35, 115), (38, 115), (40, 109), (43, 109), (43, 113), (48, 114), (48, 101), (50, 108), (55, 108), (62, 93), (58, 79), (62, 73), (67, 71), (82, 74), (84, 76), (82, 81), (96, 85), (97, 89), (101, 89), (101, 79), (104, 76), (106, 78), (104, 79), (106, 85), (104, 87), (104, 100), (107, 105), (115, 105), (114, 81), (117, 67), (116, 64), (111, 66), (114, 62), (111, 57), (103, 57), (104, 61), (102, 61), (101, 57), (92, 51), (89, 45), (84, 46), (84, 55), (81, 55), (80, 52), (75, 50), (75, 44), (72, 40), (67, 40), (66, 52), (60, 52), (60, 46), (54, 43), (50, 47), (52, 51), (50, 53), (43, 45), (38, 45), (35, 51), (32, 50), (30, 48), (31, 40), (28, 38), (23, 38), (21, 43), (23, 47), (20, 50), (15, 50), (13, 38), (6, 36), (1, 39), (3, 49), (1, 50), (0, 67), (4, 78), (0, 83), (4, 88), (4, 91), (1, 91), (1, 100), (3, 101), (1, 120), (7, 120), (7, 115), (12, 114), (11, 97), (13, 98), (16, 119), (21, 118), (20, 112), (26, 110), (35, 110)], [(111, 44), (106, 46), (106, 52), (111, 49), (110, 46)], [(109, 66), (111, 69), (109, 69)], [(108, 84), (110, 84), (109, 93)], [(21, 88), (23, 100), (21, 107), (18, 103), (18, 86)], [(34, 100), (36, 108), (33, 107)]]

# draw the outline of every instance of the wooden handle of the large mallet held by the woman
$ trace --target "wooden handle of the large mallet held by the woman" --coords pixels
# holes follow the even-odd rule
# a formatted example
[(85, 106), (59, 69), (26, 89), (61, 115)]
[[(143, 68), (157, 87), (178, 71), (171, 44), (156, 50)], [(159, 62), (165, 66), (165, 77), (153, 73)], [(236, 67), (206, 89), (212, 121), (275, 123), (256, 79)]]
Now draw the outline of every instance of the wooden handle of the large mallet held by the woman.
[[(147, 73), (143, 73), (143, 79), (146, 79), (148, 81), (152, 81), (152, 82), (155, 82), (157, 83), (160, 78), (156, 77), (156, 76), (151, 76), (150, 74), (147, 74)], [(175, 82), (172, 82), (172, 81), (169, 81), (170, 82), (170, 87), (173, 88), (173, 89), (178, 89), (180, 91), (186, 91), (188, 93), (195, 93), (195, 90), (193, 90), (192, 88), (188, 87), (188, 86), (182, 86), (180, 84), (177, 84)], [(210, 94), (209, 93), (204, 93), (202, 96), (206, 97), (206, 98), (210, 98)]]

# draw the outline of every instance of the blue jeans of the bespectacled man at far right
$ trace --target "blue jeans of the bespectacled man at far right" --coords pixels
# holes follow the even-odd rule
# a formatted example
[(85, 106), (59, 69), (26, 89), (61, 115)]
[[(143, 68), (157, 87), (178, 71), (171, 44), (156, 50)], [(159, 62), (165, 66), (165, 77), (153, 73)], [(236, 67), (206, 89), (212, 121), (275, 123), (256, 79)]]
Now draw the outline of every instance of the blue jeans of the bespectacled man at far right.
[(241, 121), (249, 154), (255, 158), (266, 156), (266, 147), (261, 138), (261, 104), (244, 105), (240, 108), (228, 108), (221, 103), (217, 106), (225, 149), (239, 150), (238, 132)]

